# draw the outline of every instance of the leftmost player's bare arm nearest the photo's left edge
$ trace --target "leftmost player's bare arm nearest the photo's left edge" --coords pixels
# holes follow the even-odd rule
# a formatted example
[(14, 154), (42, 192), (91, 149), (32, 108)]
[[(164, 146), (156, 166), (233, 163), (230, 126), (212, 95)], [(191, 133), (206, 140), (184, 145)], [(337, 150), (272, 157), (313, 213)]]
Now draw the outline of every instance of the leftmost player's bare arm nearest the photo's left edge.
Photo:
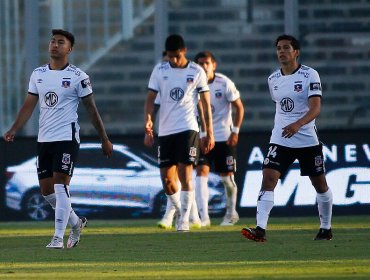
[(14, 136), (17, 133), (18, 129), (20, 129), (32, 116), (33, 110), (35, 110), (38, 100), (39, 100), (38, 95), (34, 95), (32, 93), (27, 94), (26, 100), (24, 101), (21, 109), (19, 110), (13, 125), (4, 134), (5, 141), (7, 142), (14, 141)]

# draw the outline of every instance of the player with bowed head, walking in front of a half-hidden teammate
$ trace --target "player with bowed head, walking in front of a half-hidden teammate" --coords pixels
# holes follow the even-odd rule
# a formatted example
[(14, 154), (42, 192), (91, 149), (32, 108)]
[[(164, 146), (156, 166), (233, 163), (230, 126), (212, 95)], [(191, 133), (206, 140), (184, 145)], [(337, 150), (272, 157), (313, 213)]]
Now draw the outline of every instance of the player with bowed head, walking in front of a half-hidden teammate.
[[(198, 95), (204, 108), (207, 136), (203, 149), (214, 146), (209, 88), (204, 70), (186, 58), (186, 46), (180, 35), (167, 37), (167, 63), (159, 63), (151, 74), (144, 108), (144, 127), (153, 138), (154, 100), (160, 95), (158, 159), (167, 199), (180, 211), (178, 231), (189, 230), (189, 215), (194, 199), (192, 187), (193, 164), (198, 157)], [(176, 171), (181, 182), (179, 194)], [(181, 202), (181, 203), (180, 203)]]

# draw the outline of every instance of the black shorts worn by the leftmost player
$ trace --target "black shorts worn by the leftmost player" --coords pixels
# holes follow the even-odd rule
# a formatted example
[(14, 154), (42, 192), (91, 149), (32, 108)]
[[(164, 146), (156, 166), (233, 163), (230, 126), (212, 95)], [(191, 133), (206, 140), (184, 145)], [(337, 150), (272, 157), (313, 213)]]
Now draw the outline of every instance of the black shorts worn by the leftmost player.
[(39, 180), (53, 177), (53, 172), (73, 175), (80, 144), (73, 141), (37, 143), (37, 175)]

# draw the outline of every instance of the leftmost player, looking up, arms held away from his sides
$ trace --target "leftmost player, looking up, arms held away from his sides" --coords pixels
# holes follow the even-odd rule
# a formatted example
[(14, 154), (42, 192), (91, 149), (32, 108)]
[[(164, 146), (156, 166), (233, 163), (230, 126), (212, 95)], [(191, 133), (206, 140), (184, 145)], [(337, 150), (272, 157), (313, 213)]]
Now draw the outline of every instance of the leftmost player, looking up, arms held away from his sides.
[(50, 62), (36, 68), (31, 77), (28, 94), (14, 124), (4, 134), (12, 142), (16, 132), (40, 105), (37, 138), (37, 174), (41, 194), (55, 209), (55, 233), (47, 248), (63, 249), (67, 223), (71, 232), (67, 248), (77, 246), (85, 217), (78, 217), (71, 206), (69, 184), (76, 165), (80, 145), (77, 108), (82, 99), (90, 120), (97, 130), (105, 156), (111, 156), (113, 146), (105, 132), (96, 108), (89, 76), (68, 63), (75, 38), (61, 29), (53, 29), (49, 43)]

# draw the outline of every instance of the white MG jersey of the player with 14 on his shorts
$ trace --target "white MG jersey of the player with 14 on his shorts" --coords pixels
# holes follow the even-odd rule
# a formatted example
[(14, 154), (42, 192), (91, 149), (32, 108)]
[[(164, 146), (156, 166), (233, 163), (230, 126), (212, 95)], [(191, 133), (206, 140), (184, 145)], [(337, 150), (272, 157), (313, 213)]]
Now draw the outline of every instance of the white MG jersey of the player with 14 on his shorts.
[(308, 99), (322, 96), (319, 74), (313, 68), (300, 65), (291, 75), (283, 75), (281, 69), (268, 77), (272, 100), (276, 104), (275, 122), (270, 143), (302, 148), (319, 144), (315, 120), (302, 126), (291, 138), (281, 136), (283, 127), (302, 118), (309, 110)]

